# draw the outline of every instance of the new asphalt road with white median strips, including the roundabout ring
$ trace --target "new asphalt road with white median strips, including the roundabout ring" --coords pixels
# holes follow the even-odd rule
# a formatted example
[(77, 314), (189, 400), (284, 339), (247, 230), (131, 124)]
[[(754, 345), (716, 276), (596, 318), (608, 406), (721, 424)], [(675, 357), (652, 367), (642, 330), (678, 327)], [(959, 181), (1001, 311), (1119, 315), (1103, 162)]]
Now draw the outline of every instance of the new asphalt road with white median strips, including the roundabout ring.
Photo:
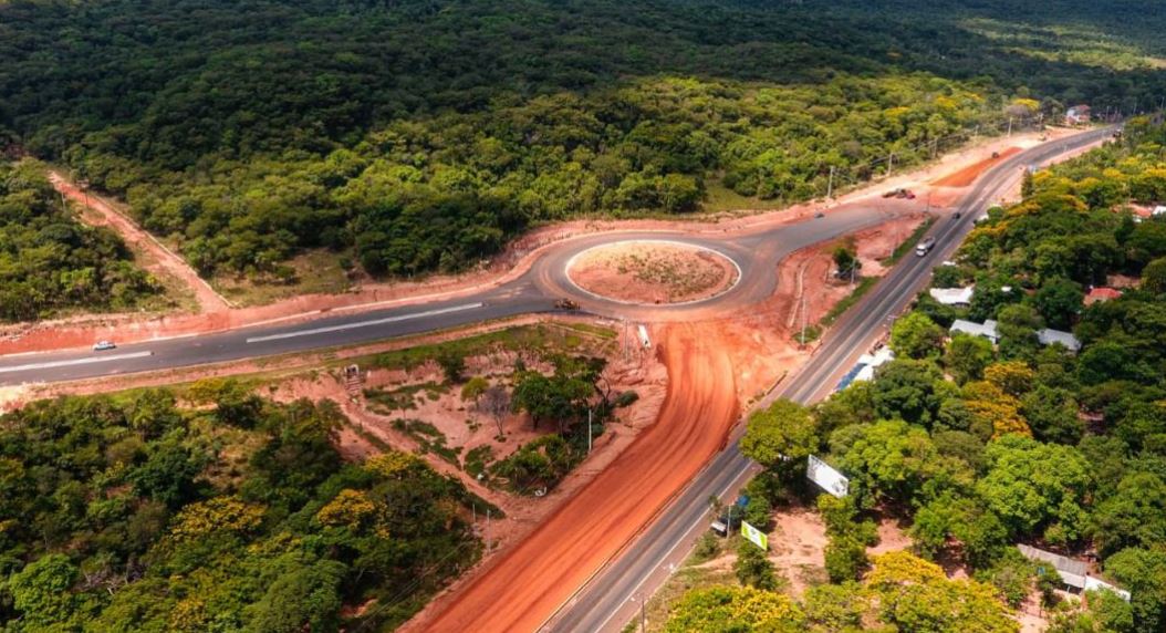
[[(873, 208), (842, 209), (805, 223), (744, 235), (691, 237), (679, 232), (623, 231), (584, 235), (549, 248), (520, 277), (482, 293), (391, 309), (326, 316), (310, 322), (264, 325), (184, 338), (120, 345), (115, 350), (65, 350), (0, 357), (0, 386), (61, 382), (189, 367), (231, 360), (302, 353), (357, 345), (554, 310), (555, 298), (573, 296), (583, 310), (618, 318), (682, 319), (710, 305), (732, 311), (773, 293), (778, 262), (789, 253), (880, 224), (886, 214)], [(624, 240), (680, 241), (711, 248), (738, 263), (739, 282), (714, 300), (691, 305), (626, 305), (589, 295), (567, 275), (576, 254), (600, 244)]]

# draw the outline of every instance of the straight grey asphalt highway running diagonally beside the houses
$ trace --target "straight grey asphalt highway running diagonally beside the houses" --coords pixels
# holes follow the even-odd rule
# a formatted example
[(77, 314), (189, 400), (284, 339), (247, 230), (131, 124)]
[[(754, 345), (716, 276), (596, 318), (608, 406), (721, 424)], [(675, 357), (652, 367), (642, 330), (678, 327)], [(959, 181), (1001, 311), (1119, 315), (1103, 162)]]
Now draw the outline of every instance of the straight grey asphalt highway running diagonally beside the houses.
[[(1096, 131), (1019, 153), (984, 174), (961, 201), (960, 218), (941, 217), (928, 234), (936, 245), (925, 256), (904, 255), (871, 291), (835, 323), (822, 340), (810, 363), (774, 389), (763, 405), (779, 398), (810, 403), (828, 395), (842, 375), (854, 366), (886, 332), (891, 319), (899, 315), (922, 289), (932, 268), (948, 259), (971, 230), (975, 218), (998, 198), (1020, 170), (1046, 163), (1067, 150), (1082, 147), (1108, 134)], [(696, 539), (708, 528), (708, 499), (730, 495), (759, 470), (743, 456), (736, 432), (701, 474), (645, 528), (641, 535), (568, 600), (543, 625), (543, 631), (604, 633), (621, 631), (640, 617), (641, 604), (663, 584), (691, 551)]]

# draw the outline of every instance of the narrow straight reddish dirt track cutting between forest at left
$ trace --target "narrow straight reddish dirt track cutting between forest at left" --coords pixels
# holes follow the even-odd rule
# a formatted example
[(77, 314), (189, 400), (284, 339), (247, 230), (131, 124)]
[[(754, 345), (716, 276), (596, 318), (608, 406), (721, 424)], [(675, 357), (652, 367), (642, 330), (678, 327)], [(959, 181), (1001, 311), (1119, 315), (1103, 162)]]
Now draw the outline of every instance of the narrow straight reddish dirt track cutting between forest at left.
[(139, 253), (145, 254), (141, 266), (156, 276), (171, 276), (180, 280), (198, 302), (198, 308), (203, 312), (215, 312), (229, 308), (226, 300), (219, 296), (198, 273), (195, 272), (187, 260), (157, 241), (136, 223), (114, 208), (114, 204), (87, 191), (80, 190), (69, 182), (64, 175), (57, 171), (49, 171), (49, 181), (62, 196), (73, 201), (87, 212), (80, 213), (80, 218), (87, 224), (97, 226), (108, 226), (114, 230), (121, 239)]

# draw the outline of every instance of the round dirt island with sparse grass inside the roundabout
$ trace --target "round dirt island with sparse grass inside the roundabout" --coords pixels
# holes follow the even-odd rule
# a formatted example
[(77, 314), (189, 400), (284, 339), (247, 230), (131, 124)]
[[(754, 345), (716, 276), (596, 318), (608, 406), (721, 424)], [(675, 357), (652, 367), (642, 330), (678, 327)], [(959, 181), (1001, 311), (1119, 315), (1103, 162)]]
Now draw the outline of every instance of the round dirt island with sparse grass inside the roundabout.
[(677, 305), (708, 301), (740, 280), (740, 267), (726, 255), (666, 240), (618, 241), (575, 255), (567, 276), (593, 296), (640, 305)]

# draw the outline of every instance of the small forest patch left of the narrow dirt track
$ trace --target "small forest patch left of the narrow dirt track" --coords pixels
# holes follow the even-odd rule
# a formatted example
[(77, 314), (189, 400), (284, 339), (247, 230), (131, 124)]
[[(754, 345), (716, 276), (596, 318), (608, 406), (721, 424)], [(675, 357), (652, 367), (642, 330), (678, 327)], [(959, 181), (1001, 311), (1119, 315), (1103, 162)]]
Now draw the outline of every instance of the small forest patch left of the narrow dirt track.
[(84, 226), (30, 159), (0, 159), (0, 322), (125, 310), (159, 291), (112, 231)]

